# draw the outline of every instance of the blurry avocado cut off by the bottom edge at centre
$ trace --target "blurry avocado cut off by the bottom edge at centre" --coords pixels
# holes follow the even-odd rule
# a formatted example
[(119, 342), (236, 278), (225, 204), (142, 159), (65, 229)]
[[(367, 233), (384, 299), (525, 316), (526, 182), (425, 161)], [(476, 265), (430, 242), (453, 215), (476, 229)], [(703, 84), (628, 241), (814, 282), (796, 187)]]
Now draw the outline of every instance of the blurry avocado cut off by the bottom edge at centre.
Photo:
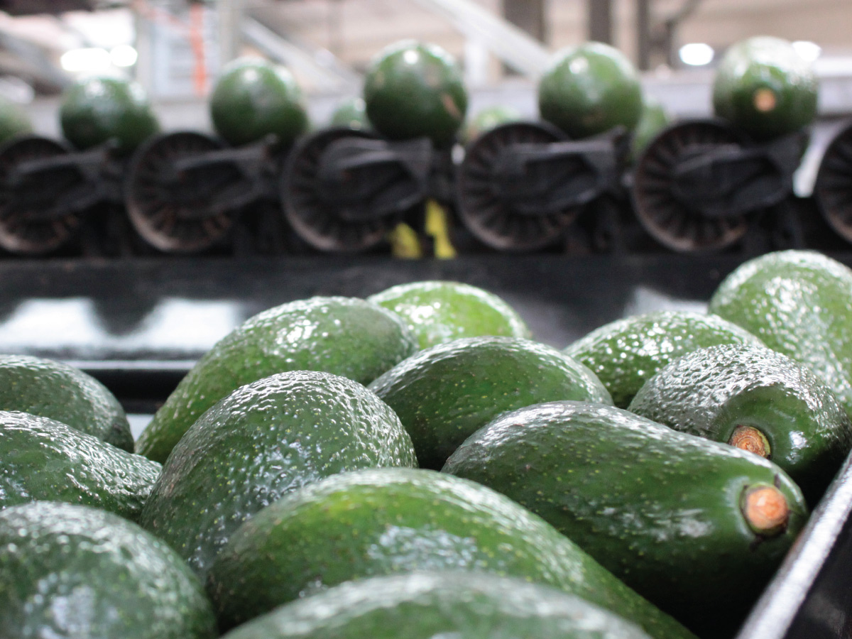
[(227, 639), (651, 639), (579, 597), (493, 574), (418, 572), (335, 586)]

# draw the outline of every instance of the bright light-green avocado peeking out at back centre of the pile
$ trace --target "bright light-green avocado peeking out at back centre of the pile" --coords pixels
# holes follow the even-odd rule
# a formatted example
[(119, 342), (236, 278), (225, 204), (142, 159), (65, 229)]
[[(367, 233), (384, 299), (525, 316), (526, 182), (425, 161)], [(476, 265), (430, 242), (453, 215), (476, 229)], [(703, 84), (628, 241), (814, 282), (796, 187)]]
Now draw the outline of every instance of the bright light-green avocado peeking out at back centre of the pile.
[(460, 282), (431, 280), (391, 286), (367, 297), (406, 322), (420, 348), (459, 337), (532, 337), (526, 322), (500, 297)]

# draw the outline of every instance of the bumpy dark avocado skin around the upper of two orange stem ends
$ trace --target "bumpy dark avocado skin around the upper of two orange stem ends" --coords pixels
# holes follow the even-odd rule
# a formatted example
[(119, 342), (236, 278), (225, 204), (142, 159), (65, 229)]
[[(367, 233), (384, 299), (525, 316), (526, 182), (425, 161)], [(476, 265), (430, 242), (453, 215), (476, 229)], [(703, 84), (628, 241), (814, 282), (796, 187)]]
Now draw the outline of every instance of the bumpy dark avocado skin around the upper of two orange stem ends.
[(737, 426), (757, 428), (769, 440), (769, 459), (809, 504), (819, 501), (852, 448), (852, 422), (831, 389), (769, 348), (699, 348), (651, 377), (628, 410), (725, 443)]

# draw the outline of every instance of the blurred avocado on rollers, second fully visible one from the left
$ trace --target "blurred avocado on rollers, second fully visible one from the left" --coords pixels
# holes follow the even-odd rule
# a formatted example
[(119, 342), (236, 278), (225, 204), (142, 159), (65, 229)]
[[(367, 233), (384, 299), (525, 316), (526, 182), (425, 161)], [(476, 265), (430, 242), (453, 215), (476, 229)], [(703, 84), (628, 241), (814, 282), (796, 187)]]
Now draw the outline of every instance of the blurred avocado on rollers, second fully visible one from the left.
[(210, 94), (216, 133), (239, 146), (276, 135), (289, 147), (308, 130), (302, 89), (284, 66), (260, 58), (229, 62)]

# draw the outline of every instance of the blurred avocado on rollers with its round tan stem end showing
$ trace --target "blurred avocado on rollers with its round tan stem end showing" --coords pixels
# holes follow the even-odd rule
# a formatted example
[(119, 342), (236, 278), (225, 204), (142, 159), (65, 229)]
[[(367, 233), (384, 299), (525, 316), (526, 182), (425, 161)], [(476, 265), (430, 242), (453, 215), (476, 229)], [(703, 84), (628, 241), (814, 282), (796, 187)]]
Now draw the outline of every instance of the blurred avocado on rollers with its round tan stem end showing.
[(816, 118), (813, 65), (780, 37), (734, 44), (716, 70), (713, 110), (757, 140), (803, 129)]

